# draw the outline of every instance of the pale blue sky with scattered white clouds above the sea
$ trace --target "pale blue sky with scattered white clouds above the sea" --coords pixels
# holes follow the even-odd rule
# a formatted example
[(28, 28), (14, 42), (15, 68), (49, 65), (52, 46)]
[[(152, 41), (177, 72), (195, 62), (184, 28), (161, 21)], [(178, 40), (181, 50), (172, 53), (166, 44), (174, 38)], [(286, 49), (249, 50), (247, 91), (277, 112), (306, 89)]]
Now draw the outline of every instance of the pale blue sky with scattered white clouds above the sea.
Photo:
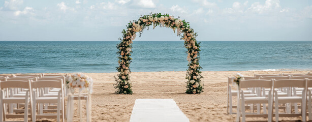
[[(151, 12), (190, 22), (198, 41), (312, 40), (310, 0), (0, 0), (0, 41), (117, 41)], [(178, 40), (164, 27), (135, 39)]]

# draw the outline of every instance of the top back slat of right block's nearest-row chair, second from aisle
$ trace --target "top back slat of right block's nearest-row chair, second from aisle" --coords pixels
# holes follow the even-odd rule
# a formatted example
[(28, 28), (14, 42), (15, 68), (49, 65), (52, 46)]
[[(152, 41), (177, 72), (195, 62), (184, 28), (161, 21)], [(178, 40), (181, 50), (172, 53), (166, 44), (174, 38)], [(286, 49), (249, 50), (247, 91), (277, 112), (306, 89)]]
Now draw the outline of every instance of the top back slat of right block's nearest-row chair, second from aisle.
[(274, 88), (279, 87), (305, 87), (305, 79), (274, 80)]

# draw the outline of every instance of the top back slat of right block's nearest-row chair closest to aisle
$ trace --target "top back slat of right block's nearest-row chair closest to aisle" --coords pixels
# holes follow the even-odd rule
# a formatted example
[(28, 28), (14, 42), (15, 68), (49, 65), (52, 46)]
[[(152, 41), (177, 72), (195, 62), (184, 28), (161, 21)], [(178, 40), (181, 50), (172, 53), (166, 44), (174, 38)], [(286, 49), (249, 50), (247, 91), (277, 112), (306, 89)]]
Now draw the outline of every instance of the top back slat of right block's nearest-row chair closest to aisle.
[(239, 82), (240, 88), (248, 88), (248, 87), (265, 87), (271, 88), (272, 87), (272, 80), (242, 80)]

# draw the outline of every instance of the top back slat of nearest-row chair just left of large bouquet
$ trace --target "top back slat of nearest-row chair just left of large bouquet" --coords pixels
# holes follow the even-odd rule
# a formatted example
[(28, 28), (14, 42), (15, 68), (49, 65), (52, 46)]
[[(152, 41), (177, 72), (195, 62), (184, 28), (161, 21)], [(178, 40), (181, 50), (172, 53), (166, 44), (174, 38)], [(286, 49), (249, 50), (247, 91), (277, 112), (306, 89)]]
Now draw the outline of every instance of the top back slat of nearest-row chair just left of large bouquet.
[(32, 82), (33, 88), (44, 88), (44, 87), (62, 88), (62, 85), (63, 85), (63, 82), (54, 81), (54, 80)]

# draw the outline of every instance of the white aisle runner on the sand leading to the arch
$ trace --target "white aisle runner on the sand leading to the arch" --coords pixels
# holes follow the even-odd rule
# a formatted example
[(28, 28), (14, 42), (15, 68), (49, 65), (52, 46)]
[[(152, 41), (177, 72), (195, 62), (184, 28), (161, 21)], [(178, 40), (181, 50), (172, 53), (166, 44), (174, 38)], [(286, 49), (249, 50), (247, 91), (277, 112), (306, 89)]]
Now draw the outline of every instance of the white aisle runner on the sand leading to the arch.
[(130, 122), (189, 122), (173, 99), (137, 99)]

